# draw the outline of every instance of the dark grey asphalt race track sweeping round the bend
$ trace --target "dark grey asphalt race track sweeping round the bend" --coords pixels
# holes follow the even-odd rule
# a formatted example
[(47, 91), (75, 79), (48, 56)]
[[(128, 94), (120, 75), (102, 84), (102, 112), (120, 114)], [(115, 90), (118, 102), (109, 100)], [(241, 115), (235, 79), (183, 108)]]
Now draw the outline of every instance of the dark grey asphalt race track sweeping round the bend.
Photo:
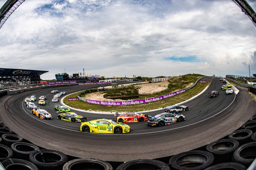
[[(186, 120), (163, 127), (149, 127), (146, 122), (127, 123), (131, 132), (126, 134), (95, 134), (80, 132), (81, 123), (57, 119), (57, 113), (51, 99), (53, 89), (40, 89), (0, 98), (0, 120), (13, 132), (32, 143), (46, 149), (58, 150), (71, 156), (96, 158), (104, 161), (130, 161), (136, 159), (154, 159), (171, 156), (209, 144), (237, 130), (243, 123), (256, 114), (256, 102), (247, 89), (237, 87), (237, 95), (221, 91), (222, 82), (216, 78), (204, 78), (211, 81), (207, 90), (197, 98), (184, 103), (190, 110), (182, 112)], [(67, 94), (98, 87), (80, 85), (57, 88)], [(193, 89), (190, 89), (193, 90)], [(208, 93), (217, 90), (216, 98)], [(23, 102), (26, 96), (46, 95), (46, 106), (40, 108), (49, 111), (53, 120), (39, 119), (31, 114)], [(59, 102), (58, 102), (59, 103)], [(161, 107), (161, 106), (159, 106)], [(72, 110), (71, 110), (72, 111)], [(102, 115), (74, 111), (78, 115), (93, 119), (113, 119), (114, 115)], [(148, 115), (157, 115), (163, 110), (152, 111)]]

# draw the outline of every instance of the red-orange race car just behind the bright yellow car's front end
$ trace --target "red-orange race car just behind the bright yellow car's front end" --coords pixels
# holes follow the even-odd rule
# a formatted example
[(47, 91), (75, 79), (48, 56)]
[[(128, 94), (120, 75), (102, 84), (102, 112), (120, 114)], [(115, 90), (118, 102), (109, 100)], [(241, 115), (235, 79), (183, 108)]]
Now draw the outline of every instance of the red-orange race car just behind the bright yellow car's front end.
[(135, 113), (135, 112), (129, 112), (129, 113), (124, 113), (122, 115), (119, 115), (119, 113), (115, 113), (116, 122), (143, 122), (146, 121), (148, 118), (146, 115)]

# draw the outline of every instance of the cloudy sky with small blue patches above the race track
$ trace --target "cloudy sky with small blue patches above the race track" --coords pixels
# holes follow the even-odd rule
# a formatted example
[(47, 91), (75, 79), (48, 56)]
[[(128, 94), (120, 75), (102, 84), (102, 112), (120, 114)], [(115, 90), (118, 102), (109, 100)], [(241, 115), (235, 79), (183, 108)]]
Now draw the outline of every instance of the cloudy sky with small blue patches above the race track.
[[(0, 0), (0, 7), (6, 0)], [(256, 11), (256, 0), (247, 0)], [(256, 26), (232, 0), (25, 0), (0, 67), (105, 77), (256, 73)]]

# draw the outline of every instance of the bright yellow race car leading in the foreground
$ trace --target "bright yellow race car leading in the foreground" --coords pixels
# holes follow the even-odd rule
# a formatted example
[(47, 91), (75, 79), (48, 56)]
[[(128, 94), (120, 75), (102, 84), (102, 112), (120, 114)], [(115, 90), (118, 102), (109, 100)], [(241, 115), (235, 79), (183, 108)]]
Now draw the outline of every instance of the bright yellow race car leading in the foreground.
[(111, 119), (97, 119), (89, 122), (82, 122), (80, 131), (95, 133), (128, 133), (130, 132), (130, 127), (127, 124), (117, 123)]

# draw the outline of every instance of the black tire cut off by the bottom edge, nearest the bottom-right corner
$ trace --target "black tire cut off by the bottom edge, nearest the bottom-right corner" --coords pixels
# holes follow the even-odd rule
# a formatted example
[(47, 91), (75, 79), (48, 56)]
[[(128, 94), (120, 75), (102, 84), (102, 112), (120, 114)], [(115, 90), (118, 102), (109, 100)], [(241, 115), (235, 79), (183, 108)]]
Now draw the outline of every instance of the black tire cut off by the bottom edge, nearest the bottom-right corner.
[(227, 162), (210, 166), (205, 170), (247, 170), (247, 168), (239, 163)]

